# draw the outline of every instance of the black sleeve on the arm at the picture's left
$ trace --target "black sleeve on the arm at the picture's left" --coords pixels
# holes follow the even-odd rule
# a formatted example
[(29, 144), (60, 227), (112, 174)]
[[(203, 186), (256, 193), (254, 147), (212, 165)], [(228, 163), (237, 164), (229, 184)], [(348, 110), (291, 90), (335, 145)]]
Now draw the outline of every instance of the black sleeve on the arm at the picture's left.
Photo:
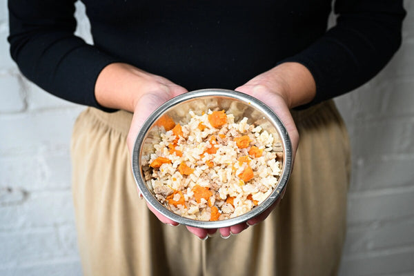
[(10, 53), (23, 75), (58, 97), (99, 107), (94, 93), (96, 79), (117, 59), (75, 37), (75, 1), (8, 4)]

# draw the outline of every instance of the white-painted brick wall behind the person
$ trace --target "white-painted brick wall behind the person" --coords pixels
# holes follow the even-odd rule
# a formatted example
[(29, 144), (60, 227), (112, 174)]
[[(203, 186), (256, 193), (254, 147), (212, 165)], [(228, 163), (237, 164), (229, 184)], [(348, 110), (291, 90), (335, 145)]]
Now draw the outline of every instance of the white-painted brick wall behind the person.
[[(341, 276), (414, 275), (414, 1), (404, 2), (404, 43), (393, 61), (336, 99), (353, 147)], [(83, 13), (77, 3), (77, 34), (90, 42)], [(81, 275), (69, 145), (83, 107), (22, 77), (7, 36), (0, 0), (0, 275)]]

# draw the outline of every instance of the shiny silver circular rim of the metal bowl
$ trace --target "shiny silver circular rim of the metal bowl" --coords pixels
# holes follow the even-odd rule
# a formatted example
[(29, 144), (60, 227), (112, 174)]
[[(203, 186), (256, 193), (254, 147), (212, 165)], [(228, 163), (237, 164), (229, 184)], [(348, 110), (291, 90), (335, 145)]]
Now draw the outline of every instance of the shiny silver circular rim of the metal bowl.
[[(279, 181), (277, 187), (274, 188), (272, 193), (266, 198), (262, 204), (256, 206), (248, 213), (244, 213), (243, 215), (239, 215), (238, 217), (233, 217), (231, 219), (224, 219), (219, 221), (201, 221), (195, 219), (189, 219), (187, 217), (181, 217), (181, 215), (177, 215), (172, 211), (168, 210), (165, 206), (163, 206), (155, 196), (150, 192), (150, 190), (146, 187), (144, 175), (141, 170), (140, 160), (141, 160), (141, 153), (142, 153), (142, 145), (143, 141), (146, 138), (146, 133), (152, 127), (152, 125), (157, 121), (157, 119), (164, 115), (165, 112), (170, 110), (170, 108), (177, 106), (179, 103), (183, 103), (188, 100), (193, 100), (202, 97), (228, 97), (233, 99), (238, 99), (240, 101), (244, 101), (248, 103), (253, 108), (259, 110), (260, 112), (264, 113), (267, 119), (271, 121), (273, 126), (277, 129), (277, 132), (282, 139), (282, 145), (284, 148), (284, 161), (282, 166), (282, 174), (279, 177)], [(173, 221), (178, 222), (179, 224), (184, 224), (186, 226), (193, 226), (197, 228), (224, 228), (228, 226), (233, 226), (235, 224), (240, 224), (242, 222), (248, 221), (248, 219), (252, 219), (256, 217), (260, 213), (264, 212), (268, 207), (270, 207), (277, 198), (282, 194), (282, 191), (286, 187), (288, 179), (290, 177), (290, 172), (292, 170), (292, 145), (290, 142), (290, 137), (288, 136), (288, 132), (286, 127), (284, 126), (283, 122), (279, 119), (279, 117), (273, 112), (271, 108), (266, 106), (265, 103), (252, 97), (248, 94), (238, 92), (235, 90), (226, 90), (226, 89), (217, 89), (217, 88), (210, 88), (210, 89), (201, 89), (201, 90), (194, 90), (191, 92), (186, 92), (184, 94), (178, 95), (166, 101), (161, 106), (159, 106), (152, 114), (144, 121), (143, 126), (138, 132), (138, 135), (134, 142), (134, 147), (132, 149), (132, 157), (131, 157), (131, 165), (132, 165), (132, 172), (135, 178), (135, 183), (141, 192), (141, 195), (144, 196), (147, 203), (155, 208), (161, 215), (168, 217), (168, 219), (172, 219)]]

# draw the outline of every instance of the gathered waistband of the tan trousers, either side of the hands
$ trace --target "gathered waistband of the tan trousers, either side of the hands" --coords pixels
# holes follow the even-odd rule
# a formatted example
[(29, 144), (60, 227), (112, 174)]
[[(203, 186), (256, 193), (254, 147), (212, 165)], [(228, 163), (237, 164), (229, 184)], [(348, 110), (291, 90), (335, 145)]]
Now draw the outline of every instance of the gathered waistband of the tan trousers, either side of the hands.
[[(318, 103), (315, 106), (311, 106), (310, 108), (306, 108), (304, 110), (290, 110), (293, 119), (296, 123), (304, 121), (304, 119), (310, 119), (313, 115), (317, 114), (320, 110), (324, 110), (326, 108), (335, 108), (335, 103), (333, 100), (323, 101), (322, 103)], [(128, 131), (130, 128), (130, 124), (132, 121), (132, 113), (119, 110), (116, 112), (104, 112), (97, 108), (88, 108), (87, 112), (101, 121), (102, 124), (117, 130), (122, 133), (122, 135), (128, 135)]]

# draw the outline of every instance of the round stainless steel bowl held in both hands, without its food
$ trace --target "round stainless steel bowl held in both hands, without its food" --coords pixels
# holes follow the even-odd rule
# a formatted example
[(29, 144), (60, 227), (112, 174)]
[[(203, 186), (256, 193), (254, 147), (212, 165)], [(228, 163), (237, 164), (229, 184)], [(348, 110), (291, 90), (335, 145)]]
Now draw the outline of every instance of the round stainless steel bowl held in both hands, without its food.
[[(189, 110), (193, 110), (196, 114), (198, 114), (197, 111), (200, 111), (201, 113), (201, 111), (206, 111), (208, 108), (211, 110), (226, 110), (226, 112), (235, 115), (235, 121), (239, 121), (243, 119), (243, 117), (247, 117), (248, 124), (254, 123), (273, 135), (279, 135), (282, 140), (284, 152), (282, 175), (279, 177), (279, 182), (270, 196), (263, 201), (262, 204), (259, 204), (259, 206), (253, 208), (253, 210), (250, 210), (250, 212), (240, 215), (239, 217), (221, 221), (199, 221), (181, 217), (180, 215), (172, 213), (159, 203), (152, 192), (152, 188), (147, 186), (144, 178), (144, 171), (141, 166), (142, 158), (153, 152), (153, 145), (160, 141), (159, 128), (154, 128), (154, 126), (161, 116), (168, 115), (172, 117), (175, 122), (185, 124), (190, 120), (190, 115), (188, 113)], [(275, 112), (268, 108), (268, 106), (266, 106), (262, 101), (259, 101), (250, 95), (233, 90), (196, 90), (170, 99), (170, 101), (167, 101), (162, 106), (157, 108), (157, 110), (152, 112), (150, 117), (148, 117), (148, 119), (144, 122), (144, 126), (142, 126), (138, 133), (137, 139), (135, 140), (132, 152), (132, 170), (135, 181), (137, 182), (137, 186), (142, 195), (144, 195), (146, 201), (148, 201), (148, 203), (155, 208), (155, 210), (158, 210), (159, 213), (169, 219), (177, 221), (179, 224), (199, 228), (228, 227), (242, 223), (259, 215), (266, 210), (266, 208), (272, 205), (279, 197), (280, 193), (287, 184), (291, 167), (292, 147), (288, 137), (288, 132), (279, 117), (277, 117)]]

